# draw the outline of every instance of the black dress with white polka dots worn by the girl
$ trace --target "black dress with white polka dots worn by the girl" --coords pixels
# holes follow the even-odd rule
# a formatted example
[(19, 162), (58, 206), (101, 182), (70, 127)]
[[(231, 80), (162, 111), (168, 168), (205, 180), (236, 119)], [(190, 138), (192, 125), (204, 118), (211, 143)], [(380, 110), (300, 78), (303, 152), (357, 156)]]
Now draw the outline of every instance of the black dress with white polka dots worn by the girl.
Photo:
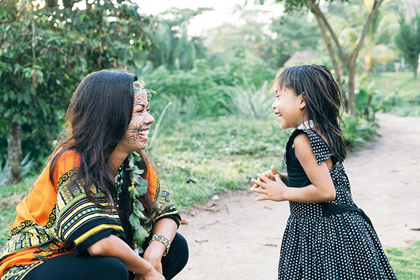
[[(313, 123), (310, 125), (313, 127)], [(286, 145), (282, 168), (287, 164), (290, 187), (311, 184), (294, 155), (293, 139), (297, 134), (308, 135), (318, 164), (328, 158), (335, 162), (328, 145), (310, 127), (309, 123), (297, 127)], [(335, 200), (313, 204), (290, 202), (290, 217), (281, 244), (279, 279), (396, 279), (367, 217), (359, 211), (323, 215), (325, 206), (331, 206), (325, 204), (357, 209), (342, 163), (333, 165), (330, 175), (336, 190)]]

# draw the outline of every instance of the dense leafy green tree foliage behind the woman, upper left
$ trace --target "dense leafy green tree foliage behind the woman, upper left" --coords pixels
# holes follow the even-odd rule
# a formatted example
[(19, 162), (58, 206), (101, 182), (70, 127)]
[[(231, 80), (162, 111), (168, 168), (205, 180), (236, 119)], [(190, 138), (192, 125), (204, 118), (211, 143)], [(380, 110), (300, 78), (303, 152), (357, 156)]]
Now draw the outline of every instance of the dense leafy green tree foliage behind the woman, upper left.
[[(38, 165), (52, 149), (71, 94), (87, 73), (138, 66), (151, 48), (150, 19), (130, 1), (2, 1), (0, 8), (0, 160), (8, 122), (22, 124), (24, 153)], [(135, 33), (133, 33), (135, 30)]]

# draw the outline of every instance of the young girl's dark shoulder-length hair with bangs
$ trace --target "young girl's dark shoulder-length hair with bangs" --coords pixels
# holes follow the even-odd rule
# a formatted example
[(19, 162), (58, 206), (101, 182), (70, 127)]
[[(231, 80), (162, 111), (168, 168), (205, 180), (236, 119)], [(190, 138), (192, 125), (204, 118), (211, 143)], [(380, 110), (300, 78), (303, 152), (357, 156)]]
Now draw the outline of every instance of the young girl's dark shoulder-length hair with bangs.
[(306, 103), (304, 114), (314, 120), (315, 129), (325, 137), (339, 162), (345, 160), (346, 142), (339, 128), (342, 123), (339, 115), (341, 94), (328, 67), (318, 64), (291, 66), (276, 77), (275, 84), (280, 90), (287, 87), (297, 95), (302, 94)]

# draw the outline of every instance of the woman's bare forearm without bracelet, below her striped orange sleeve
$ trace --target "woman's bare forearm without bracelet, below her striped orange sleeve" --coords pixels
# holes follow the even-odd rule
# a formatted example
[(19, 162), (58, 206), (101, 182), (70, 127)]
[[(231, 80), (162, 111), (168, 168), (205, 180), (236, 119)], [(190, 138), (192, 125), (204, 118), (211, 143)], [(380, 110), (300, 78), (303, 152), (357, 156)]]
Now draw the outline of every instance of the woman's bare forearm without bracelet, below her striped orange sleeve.
[(143, 279), (165, 279), (147, 260), (141, 258), (125, 243), (125, 241), (115, 235), (100, 239), (87, 248), (87, 252), (89, 252), (90, 255), (118, 258), (124, 263), (128, 270), (141, 274)]

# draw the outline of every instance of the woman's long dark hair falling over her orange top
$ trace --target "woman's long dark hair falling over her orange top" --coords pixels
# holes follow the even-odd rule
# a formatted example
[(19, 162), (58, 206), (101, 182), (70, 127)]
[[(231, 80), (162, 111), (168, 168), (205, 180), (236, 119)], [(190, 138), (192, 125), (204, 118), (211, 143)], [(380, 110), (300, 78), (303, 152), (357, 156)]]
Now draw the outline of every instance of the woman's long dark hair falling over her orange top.
[[(123, 139), (132, 118), (134, 104), (133, 82), (137, 77), (131, 73), (116, 70), (102, 70), (90, 73), (80, 83), (73, 94), (66, 114), (66, 128), (62, 139), (50, 156), (50, 181), (55, 185), (54, 172), (60, 155), (66, 151), (76, 151), (80, 157), (78, 172), (69, 179), (69, 188), (75, 183), (85, 188), (87, 198), (98, 204), (90, 190), (96, 186), (109, 197), (113, 205), (116, 197), (116, 183), (109, 167), (109, 156)], [(141, 162), (138, 163), (147, 174), (149, 158), (144, 151), (139, 151)], [(64, 155), (65, 156), (65, 155)], [(128, 167), (127, 159), (125, 167)], [(125, 172), (128, 174), (128, 172)], [(127, 176), (125, 176), (127, 178)], [(128, 196), (130, 180), (123, 183), (118, 213), (129, 244), (132, 245), (132, 230), (128, 218), (132, 213), (132, 202)], [(148, 192), (141, 198), (146, 208), (153, 209), (153, 198)], [(131, 236), (130, 236), (131, 235)]]

